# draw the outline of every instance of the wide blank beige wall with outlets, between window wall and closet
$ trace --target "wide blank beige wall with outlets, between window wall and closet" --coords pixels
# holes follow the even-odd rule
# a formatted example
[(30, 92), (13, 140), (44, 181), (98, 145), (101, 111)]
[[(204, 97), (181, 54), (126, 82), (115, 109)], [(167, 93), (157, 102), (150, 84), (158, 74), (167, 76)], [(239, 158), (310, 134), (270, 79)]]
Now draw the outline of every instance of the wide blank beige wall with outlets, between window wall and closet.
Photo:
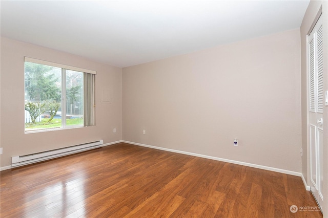
[(299, 29), (122, 72), (123, 140), (301, 171)]

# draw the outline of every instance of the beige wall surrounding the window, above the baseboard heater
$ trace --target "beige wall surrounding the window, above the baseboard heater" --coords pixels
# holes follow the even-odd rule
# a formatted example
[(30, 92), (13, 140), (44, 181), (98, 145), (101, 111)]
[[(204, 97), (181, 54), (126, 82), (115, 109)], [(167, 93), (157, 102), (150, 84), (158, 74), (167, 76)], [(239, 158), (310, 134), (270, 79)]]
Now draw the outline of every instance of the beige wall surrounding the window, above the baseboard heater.
[[(24, 133), (24, 56), (97, 71), (96, 126)], [(111, 90), (112, 103), (101, 104), (101, 89)], [(122, 138), (121, 69), (75, 55), (1, 38), (1, 167), (11, 157), (26, 155), (103, 139), (104, 143)], [(117, 132), (113, 133), (113, 128)]]

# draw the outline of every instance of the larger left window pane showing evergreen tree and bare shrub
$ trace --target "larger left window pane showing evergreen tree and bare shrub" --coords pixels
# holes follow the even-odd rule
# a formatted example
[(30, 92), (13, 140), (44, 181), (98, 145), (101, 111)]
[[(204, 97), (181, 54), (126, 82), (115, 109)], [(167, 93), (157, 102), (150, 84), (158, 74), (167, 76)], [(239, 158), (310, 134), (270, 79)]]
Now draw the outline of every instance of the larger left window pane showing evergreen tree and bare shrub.
[(61, 127), (61, 69), (25, 62), (25, 131)]

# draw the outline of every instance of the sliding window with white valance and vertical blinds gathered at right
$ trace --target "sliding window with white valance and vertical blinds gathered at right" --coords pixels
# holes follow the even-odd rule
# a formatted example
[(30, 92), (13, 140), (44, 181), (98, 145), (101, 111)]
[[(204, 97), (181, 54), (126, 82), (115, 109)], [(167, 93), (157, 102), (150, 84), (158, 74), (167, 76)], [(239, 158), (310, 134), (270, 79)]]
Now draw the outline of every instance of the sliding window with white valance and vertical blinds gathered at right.
[(25, 57), (25, 132), (95, 125), (95, 73)]

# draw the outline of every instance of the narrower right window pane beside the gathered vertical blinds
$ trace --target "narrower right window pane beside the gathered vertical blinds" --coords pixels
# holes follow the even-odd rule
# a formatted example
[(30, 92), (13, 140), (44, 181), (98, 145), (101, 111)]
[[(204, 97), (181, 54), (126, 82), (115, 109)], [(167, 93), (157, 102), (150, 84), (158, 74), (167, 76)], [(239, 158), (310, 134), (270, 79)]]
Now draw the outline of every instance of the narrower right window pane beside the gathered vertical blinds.
[(83, 126), (83, 72), (66, 70), (66, 126)]

